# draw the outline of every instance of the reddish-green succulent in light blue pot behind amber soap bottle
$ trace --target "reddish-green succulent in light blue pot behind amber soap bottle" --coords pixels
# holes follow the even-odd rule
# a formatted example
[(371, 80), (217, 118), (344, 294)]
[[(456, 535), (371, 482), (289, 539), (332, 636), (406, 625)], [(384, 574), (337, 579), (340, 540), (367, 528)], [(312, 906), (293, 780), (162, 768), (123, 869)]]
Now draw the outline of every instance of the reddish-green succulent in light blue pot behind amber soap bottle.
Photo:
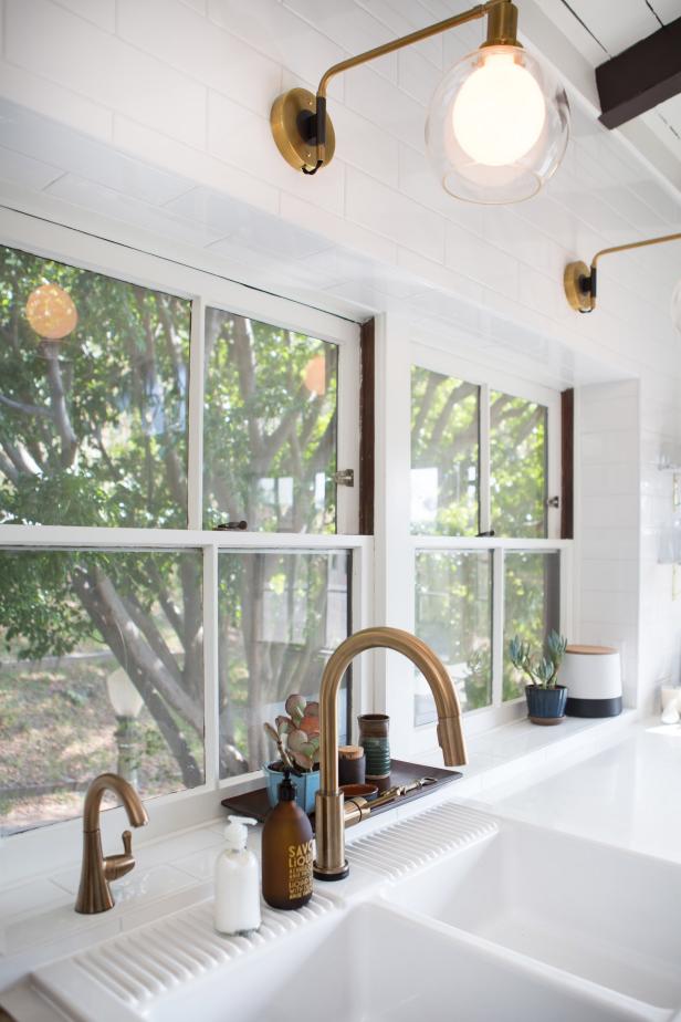
[(276, 805), (283, 771), (289, 769), (295, 801), (304, 812), (312, 813), (319, 788), (319, 703), (307, 702), (294, 692), (286, 699), (285, 710), (274, 726), (263, 724), (279, 750), (279, 759), (263, 766), (270, 805)]

